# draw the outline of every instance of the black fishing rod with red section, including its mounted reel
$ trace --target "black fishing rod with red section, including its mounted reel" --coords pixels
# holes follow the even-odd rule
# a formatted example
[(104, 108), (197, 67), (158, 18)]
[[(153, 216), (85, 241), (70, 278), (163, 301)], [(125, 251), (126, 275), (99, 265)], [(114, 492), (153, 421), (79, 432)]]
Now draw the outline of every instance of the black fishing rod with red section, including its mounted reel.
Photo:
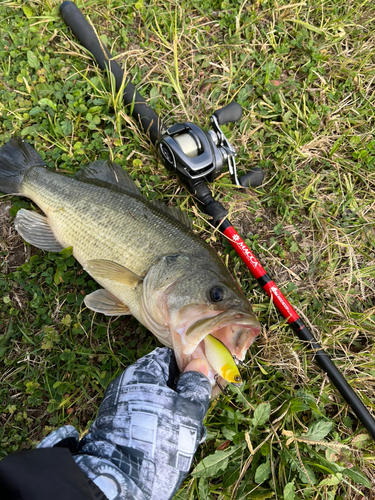
[(123, 89), (124, 103), (129, 106), (130, 114), (140, 122), (141, 128), (150, 137), (163, 165), (178, 175), (187, 190), (201, 203), (204, 212), (212, 217), (213, 225), (228, 238), (259, 285), (271, 298), (299, 339), (313, 351), (319, 366), (327, 373), (331, 382), (375, 440), (374, 418), (228, 221), (228, 211), (219, 201), (214, 200), (207, 186), (208, 182), (212, 182), (221, 174), (224, 165), (228, 165), (232, 181), (238, 186), (254, 187), (259, 186), (263, 181), (264, 175), (259, 168), (238, 178), (235, 164), (236, 153), (220, 128), (220, 125), (235, 122), (241, 118), (241, 106), (232, 102), (215, 111), (210, 118), (212, 129), (208, 132), (193, 123), (176, 123), (166, 128), (134, 85), (125, 79), (121, 67), (112, 58), (78, 7), (73, 2), (66, 1), (60, 5), (60, 13), (73, 34), (93, 55), (98, 66), (113, 74), (116, 91)]

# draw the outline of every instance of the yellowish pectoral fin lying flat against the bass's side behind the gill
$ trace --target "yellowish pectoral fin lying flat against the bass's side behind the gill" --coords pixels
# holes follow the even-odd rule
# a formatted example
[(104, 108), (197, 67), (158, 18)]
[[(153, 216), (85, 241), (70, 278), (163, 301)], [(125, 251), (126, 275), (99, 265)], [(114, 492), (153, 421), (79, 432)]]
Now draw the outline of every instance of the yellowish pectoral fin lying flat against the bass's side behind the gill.
[(121, 285), (134, 287), (141, 281), (143, 281), (142, 276), (133, 273), (130, 269), (112, 262), (111, 260), (104, 259), (92, 259), (85, 262), (83, 266), (84, 270), (87, 271), (93, 278), (102, 278), (109, 281), (114, 281)]

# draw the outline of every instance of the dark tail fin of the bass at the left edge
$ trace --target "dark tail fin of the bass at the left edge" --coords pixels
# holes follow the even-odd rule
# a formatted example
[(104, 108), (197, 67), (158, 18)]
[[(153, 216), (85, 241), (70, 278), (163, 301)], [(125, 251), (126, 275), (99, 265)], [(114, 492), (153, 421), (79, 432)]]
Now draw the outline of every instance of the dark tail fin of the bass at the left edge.
[(22, 194), (21, 184), (30, 168), (45, 163), (34, 148), (20, 137), (14, 137), (0, 148), (0, 191)]

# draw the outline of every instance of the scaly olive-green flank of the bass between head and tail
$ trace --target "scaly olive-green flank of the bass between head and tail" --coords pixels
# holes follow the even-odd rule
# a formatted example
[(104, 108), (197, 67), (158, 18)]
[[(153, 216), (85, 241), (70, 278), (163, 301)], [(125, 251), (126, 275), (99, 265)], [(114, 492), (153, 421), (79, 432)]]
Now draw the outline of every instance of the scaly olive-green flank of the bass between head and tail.
[[(143, 274), (160, 258), (160, 247), (165, 255), (208, 254), (200, 238), (192, 232), (187, 234), (182, 224), (146, 200), (96, 185), (89, 185), (88, 191), (86, 183), (38, 167), (21, 187), (23, 194), (47, 214), (57, 240), (62, 246), (72, 246), (81, 264), (102, 258)], [(116, 233), (105, 231), (113, 226)]]

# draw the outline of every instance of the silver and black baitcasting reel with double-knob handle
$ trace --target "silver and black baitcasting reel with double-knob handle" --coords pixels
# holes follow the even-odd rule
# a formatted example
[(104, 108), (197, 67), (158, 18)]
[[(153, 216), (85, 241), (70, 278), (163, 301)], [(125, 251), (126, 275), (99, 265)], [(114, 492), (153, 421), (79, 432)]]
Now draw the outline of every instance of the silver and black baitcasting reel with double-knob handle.
[(236, 152), (220, 129), (220, 125), (236, 122), (241, 116), (241, 106), (231, 102), (211, 116), (212, 129), (208, 132), (193, 123), (172, 125), (156, 142), (162, 163), (168, 170), (175, 171), (185, 184), (198, 180), (212, 182), (228, 164), (235, 185), (260, 186), (264, 179), (260, 168), (237, 177)]

